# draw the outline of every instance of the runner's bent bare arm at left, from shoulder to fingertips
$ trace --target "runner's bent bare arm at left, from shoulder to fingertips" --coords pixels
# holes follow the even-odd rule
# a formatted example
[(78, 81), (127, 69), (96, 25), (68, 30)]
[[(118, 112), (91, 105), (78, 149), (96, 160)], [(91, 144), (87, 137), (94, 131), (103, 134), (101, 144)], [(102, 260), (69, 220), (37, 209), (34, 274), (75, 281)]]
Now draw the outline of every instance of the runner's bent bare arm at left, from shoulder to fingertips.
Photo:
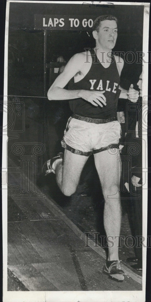
[[(67, 63), (64, 71), (56, 78), (54, 83), (48, 90), (47, 97), (51, 100), (71, 100), (75, 98), (83, 98), (94, 106), (103, 107), (106, 105), (106, 98), (103, 95), (105, 91), (89, 91), (89, 90), (66, 90), (64, 87), (77, 72), (82, 72), (82, 67), (86, 62), (84, 53), (75, 54)], [(85, 63), (86, 64), (86, 63)]]

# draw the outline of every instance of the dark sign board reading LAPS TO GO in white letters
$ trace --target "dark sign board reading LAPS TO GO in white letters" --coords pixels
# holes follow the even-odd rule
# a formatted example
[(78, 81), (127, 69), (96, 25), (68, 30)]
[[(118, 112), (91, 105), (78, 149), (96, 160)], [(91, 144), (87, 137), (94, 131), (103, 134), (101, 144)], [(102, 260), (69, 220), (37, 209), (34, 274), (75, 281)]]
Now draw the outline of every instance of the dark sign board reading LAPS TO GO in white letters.
[(69, 15), (34, 15), (34, 29), (47, 30), (92, 30), (93, 21), (97, 16)]

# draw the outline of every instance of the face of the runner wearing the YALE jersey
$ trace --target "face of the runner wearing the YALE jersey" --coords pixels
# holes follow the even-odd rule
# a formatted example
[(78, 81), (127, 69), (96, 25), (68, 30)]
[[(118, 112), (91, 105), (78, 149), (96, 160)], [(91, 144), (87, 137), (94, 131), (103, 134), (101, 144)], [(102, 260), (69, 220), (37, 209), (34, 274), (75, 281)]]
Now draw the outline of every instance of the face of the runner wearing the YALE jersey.
[(105, 50), (114, 48), (117, 39), (117, 23), (114, 20), (101, 21), (99, 31), (94, 31), (94, 38)]

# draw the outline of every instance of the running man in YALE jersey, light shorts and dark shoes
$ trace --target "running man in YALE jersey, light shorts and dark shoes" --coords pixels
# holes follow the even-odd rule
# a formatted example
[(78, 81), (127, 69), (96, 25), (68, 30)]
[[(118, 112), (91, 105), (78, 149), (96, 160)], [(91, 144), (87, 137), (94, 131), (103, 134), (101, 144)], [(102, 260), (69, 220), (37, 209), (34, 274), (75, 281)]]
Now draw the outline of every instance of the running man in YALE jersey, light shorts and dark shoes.
[[(124, 280), (118, 257), (121, 205), (118, 192), (117, 152), (120, 139), (120, 124), (116, 119), (117, 101), (121, 98), (138, 99), (138, 92), (127, 93), (119, 89), (120, 73), (124, 61), (113, 56), (111, 51), (117, 40), (117, 18), (110, 15), (98, 17), (93, 24), (96, 47), (75, 54), (64, 71), (48, 90), (48, 99), (67, 100), (73, 111), (69, 118), (62, 146), (64, 156), (59, 153), (43, 166), (45, 175), (56, 173), (56, 182), (66, 196), (77, 188), (82, 169), (88, 156), (94, 154), (95, 166), (104, 194), (104, 227), (112, 237), (108, 245), (108, 260), (104, 272), (117, 280)], [(68, 83), (68, 90), (64, 87)], [(111, 237), (109, 237), (111, 240)], [(111, 247), (109, 247), (111, 246)]]

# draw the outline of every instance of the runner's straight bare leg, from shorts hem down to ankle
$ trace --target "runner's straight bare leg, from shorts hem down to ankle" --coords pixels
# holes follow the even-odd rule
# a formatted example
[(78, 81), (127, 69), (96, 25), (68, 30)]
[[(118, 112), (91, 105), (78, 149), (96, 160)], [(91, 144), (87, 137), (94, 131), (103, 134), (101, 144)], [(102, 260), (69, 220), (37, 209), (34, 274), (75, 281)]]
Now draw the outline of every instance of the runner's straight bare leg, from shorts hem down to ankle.
[[(117, 154), (111, 154), (111, 150), (106, 150), (96, 153), (94, 158), (105, 200), (104, 228), (106, 236), (120, 236), (121, 204), (118, 192), (120, 171), (117, 167)], [(118, 158), (119, 160), (120, 158)], [(109, 240), (112, 241), (113, 247), (108, 248), (108, 260), (119, 260), (118, 238), (109, 238)], [(111, 246), (111, 243), (108, 244)]]

